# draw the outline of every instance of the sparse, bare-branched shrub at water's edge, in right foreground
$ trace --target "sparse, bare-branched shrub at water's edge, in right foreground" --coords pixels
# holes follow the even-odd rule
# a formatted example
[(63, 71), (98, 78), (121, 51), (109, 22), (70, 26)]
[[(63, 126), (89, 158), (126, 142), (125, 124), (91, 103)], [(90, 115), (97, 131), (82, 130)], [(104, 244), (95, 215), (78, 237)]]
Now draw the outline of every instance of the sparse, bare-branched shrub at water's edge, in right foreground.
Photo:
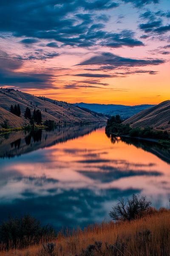
[(121, 198), (112, 211), (109, 213), (113, 220), (133, 220), (142, 217), (151, 208), (151, 201), (146, 200), (146, 196), (134, 195), (125, 201)]

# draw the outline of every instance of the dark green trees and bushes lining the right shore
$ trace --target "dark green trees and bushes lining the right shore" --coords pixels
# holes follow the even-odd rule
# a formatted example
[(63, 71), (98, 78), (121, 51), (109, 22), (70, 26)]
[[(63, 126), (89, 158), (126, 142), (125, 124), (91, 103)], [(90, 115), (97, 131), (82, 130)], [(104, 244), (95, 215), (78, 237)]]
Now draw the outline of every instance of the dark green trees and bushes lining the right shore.
[(108, 119), (105, 133), (108, 136), (113, 134), (119, 137), (147, 140), (170, 146), (170, 134), (167, 131), (160, 131), (151, 127), (131, 128), (129, 124), (122, 124), (123, 121), (119, 115), (112, 116)]

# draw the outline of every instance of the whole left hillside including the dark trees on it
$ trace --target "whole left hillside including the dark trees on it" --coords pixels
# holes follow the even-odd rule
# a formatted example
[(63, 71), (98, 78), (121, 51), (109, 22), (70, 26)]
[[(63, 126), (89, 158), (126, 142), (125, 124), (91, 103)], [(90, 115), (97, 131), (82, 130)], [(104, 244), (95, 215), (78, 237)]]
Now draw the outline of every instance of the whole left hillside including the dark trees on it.
[[(43, 125), (45, 120), (55, 124), (107, 122), (107, 117), (90, 110), (82, 110), (68, 102), (44, 96), (34, 96), (19, 90), (0, 89), (0, 128), (18, 130), (33, 124)], [(2, 130), (2, 129), (1, 129)], [(4, 131), (4, 130), (3, 130)]]

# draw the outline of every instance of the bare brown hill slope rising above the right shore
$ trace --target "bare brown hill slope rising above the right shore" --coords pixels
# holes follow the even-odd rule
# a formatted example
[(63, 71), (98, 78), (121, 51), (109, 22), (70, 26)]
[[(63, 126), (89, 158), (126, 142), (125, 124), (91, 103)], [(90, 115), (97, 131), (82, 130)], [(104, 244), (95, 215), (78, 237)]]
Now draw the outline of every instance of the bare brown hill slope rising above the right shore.
[(132, 128), (149, 126), (157, 129), (170, 130), (170, 100), (145, 109), (125, 120), (123, 124), (130, 124)]

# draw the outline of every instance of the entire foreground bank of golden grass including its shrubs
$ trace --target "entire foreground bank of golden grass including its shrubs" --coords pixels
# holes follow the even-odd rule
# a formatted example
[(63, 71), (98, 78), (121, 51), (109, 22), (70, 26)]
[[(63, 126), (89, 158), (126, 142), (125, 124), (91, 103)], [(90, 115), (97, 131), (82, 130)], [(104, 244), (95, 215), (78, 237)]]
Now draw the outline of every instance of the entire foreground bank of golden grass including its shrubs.
[[(121, 198), (113, 219), (55, 234), (30, 215), (0, 225), (0, 256), (169, 256), (170, 209), (151, 207), (146, 197)], [(13, 240), (10, 240), (13, 238)]]

